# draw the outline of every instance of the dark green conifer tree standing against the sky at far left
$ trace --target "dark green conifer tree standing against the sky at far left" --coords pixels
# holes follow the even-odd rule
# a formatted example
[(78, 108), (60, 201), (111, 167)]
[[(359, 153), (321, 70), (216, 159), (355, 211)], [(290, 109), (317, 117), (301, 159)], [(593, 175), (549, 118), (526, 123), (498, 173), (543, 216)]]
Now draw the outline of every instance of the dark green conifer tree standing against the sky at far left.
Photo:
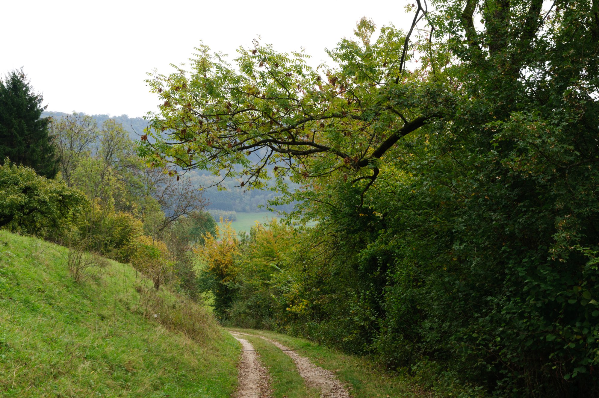
[(23, 70), (11, 71), (0, 80), (0, 159), (9, 158), (52, 178), (58, 162), (49, 136), (50, 119), (41, 117), (46, 108), (42, 101)]

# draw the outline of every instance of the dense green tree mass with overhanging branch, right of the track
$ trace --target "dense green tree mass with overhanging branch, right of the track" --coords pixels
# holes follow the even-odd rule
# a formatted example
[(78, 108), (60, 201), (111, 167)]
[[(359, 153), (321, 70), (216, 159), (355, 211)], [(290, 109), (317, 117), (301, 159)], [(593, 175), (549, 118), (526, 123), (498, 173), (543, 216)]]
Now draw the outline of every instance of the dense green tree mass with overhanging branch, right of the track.
[(599, 2), (407, 8), (376, 40), (362, 19), (336, 67), (200, 46), (151, 74), (140, 153), (303, 200), (332, 276), (302, 260), (298, 328), (500, 395), (596, 396)]

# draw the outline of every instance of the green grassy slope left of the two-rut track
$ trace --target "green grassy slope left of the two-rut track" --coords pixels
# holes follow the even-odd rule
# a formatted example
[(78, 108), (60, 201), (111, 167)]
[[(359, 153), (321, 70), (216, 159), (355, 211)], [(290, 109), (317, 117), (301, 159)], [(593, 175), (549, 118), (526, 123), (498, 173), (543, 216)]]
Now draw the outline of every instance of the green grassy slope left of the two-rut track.
[[(209, 313), (190, 337), (162, 325), (164, 313), (143, 316), (131, 267), (110, 261), (74, 282), (65, 258), (65, 248), (0, 231), (0, 396), (230, 396), (238, 345)], [(183, 300), (161, 295), (172, 307)]]

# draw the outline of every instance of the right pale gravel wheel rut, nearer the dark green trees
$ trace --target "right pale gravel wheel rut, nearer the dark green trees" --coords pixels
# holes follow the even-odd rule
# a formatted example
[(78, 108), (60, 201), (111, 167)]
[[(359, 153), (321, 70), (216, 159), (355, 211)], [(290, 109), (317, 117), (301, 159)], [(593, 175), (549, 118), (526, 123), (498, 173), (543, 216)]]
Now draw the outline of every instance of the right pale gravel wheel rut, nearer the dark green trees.
[(332, 373), (330, 370), (322, 369), (320, 366), (316, 366), (315, 364), (311, 363), (308, 358), (299, 356), (297, 352), (293, 351), (292, 349), (287, 348), (275, 340), (268, 339), (264, 336), (258, 336), (257, 334), (248, 334), (242, 332), (231, 333), (234, 335), (237, 333), (244, 336), (260, 337), (261, 339), (267, 340), (267, 342), (277, 346), (277, 348), (281, 349), (283, 352), (285, 352), (285, 354), (291, 357), (295, 363), (295, 366), (297, 367), (299, 375), (304, 378), (308, 386), (320, 388), (321, 398), (350, 398), (346, 388), (341, 385), (334, 373)]

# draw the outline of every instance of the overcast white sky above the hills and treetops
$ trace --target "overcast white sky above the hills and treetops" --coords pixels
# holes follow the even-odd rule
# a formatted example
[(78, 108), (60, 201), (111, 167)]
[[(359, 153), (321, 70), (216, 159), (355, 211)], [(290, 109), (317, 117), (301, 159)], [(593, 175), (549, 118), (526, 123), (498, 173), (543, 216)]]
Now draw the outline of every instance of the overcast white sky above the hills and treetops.
[(203, 40), (235, 54), (261, 35), (280, 52), (304, 46), (314, 66), (362, 16), (406, 29), (402, 1), (7, 1), (0, 74), (23, 67), (52, 111), (143, 116), (158, 101), (146, 72), (186, 62)]

